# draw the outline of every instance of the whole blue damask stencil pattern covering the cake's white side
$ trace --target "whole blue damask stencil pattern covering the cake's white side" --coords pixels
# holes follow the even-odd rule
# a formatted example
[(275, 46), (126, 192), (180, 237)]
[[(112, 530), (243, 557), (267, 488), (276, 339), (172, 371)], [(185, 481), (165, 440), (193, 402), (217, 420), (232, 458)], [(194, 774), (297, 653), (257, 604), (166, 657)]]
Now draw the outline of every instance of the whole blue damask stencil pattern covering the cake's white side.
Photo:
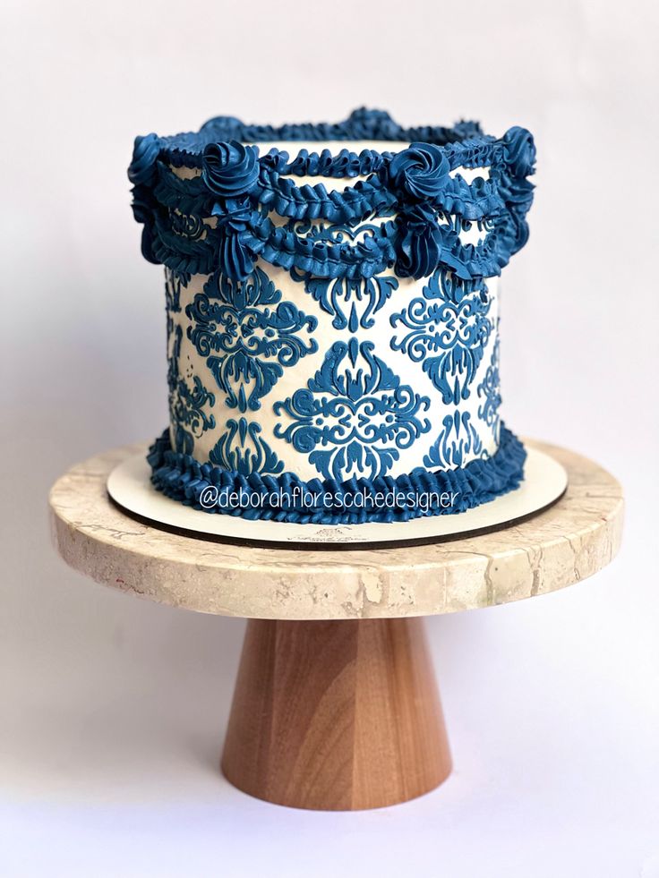
[[(398, 286), (395, 277), (373, 280), (389, 279)], [(338, 279), (339, 285), (344, 283), (345, 279)], [(309, 284), (308, 280), (307, 290)], [(182, 310), (183, 289), (182, 279), (167, 272), (167, 315), (172, 321), (168, 383), (174, 447), (192, 455), (195, 438), (215, 430), (218, 410), (213, 413), (215, 394), (205, 386), (203, 372), (191, 375), (192, 384), (179, 375), (184, 330), (173, 319)], [(400, 459), (400, 451), (431, 430), (429, 418), (424, 417), (430, 411), (430, 399), (415, 393), (410, 384), (401, 383), (375, 353), (375, 339), (355, 338), (356, 329), (364, 328), (365, 315), (377, 316), (386, 299), (378, 303), (375, 296), (364, 304), (355, 294), (351, 302), (350, 292), (343, 298), (336, 294), (333, 305), (328, 298), (328, 306), (321, 306), (325, 312), (334, 309), (335, 329), (338, 313), (343, 314), (339, 324), (345, 333), (343, 339), (331, 346), (320, 370), (307, 379), (305, 387), (274, 403), (269, 395), (286, 365), (300, 362), (318, 349), (315, 338), (310, 337), (317, 328), (316, 318), (305, 315), (294, 303), (282, 302), (280, 290), (260, 268), (246, 282), (217, 272), (209, 277), (202, 293), (194, 294), (193, 301), (184, 307), (190, 321), (187, 337), (224, 392), (221, 405), (245, 414), (258, 410), (266, 397), (266, 405), (272, 405), (279, 418), (273, 433), (269, 436), (266, 430), (264, 437), (263, 423), (249, 417), (225, 420), (220, 416), (220, 430), (212, 438), (215, 444), (206, 452), (210, 463), (245, 476), (282, 473), (290, 463), (286, 463), (289, 456), (284, 449), (278, 448), (279, 439), (306, 456), (325, 478), (337, 482), (353, 476), (372, 480), (389, 473)], [(348, 303), (353, 309), (357, 303), (363, 306), (357, 327), (345, 319)], [(487, 424), (499, 441), (496, 338), (488, 368), (479, 372), (477, 411), (475, 405), (471, 411), (458, 407), (473, 392), (475, 374), (494, 328), (491, 310), (484, 281), (466, 282), (442, 270), (428, 279), (422, 295), (408, 300), (407, 307), (389, 318), (394, 330), (407, 329), (404, 335), (389, 330), (390, 347), (419, 364), (419, 375), (426, 373), (444, 404), (457, 406), (443, 418), (440, 436), (423, 458), (425, 466), (451, 469), (484, 456), (485, 439), (479, 435), (478, 422)], [(373, 317), (367, 320), (374, 325)], [(476, 417), (478, 421), (473, 422)]]

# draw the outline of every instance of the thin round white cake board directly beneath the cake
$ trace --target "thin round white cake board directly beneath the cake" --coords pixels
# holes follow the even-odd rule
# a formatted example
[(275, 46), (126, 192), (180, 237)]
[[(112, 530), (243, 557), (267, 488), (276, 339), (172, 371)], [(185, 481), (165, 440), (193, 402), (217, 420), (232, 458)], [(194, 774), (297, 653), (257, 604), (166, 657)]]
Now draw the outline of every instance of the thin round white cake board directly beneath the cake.
[(568, 475), (561, 464), (535, 448), (526, 450), (525, 479), (517, 490), (466, 512), (424, 516), (407, 522), (294, 524), (203, 512), (155, 490), (145, 453), (128, 457), (115, 467), (107, 478), (107, 492), (118, 506), (133, 516), (202, 539), (280, 544), (288, 548), (296, 545), (301, 549), (418, 545), (507, 527), (560, 499), (568, 486)]

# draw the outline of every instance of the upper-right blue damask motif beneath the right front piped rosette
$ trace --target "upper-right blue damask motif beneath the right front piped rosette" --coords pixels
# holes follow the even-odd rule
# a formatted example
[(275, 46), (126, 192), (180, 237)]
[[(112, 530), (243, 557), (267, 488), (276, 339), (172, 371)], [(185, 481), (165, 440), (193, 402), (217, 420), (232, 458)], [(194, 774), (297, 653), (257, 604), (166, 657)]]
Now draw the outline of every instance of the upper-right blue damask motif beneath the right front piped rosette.
[(392, 314), (392, 327), (409, 331), (391, 339), (391, 348), (402, 351), (412, 362), (424, 363), (432, 384), (444, 403), (458, 405), (470, 394), (484, 349), (494, 328), (487, 316), (491, 299), (482, 280), (459, 280), (439, 269), (422, 295), (403, 311)]

